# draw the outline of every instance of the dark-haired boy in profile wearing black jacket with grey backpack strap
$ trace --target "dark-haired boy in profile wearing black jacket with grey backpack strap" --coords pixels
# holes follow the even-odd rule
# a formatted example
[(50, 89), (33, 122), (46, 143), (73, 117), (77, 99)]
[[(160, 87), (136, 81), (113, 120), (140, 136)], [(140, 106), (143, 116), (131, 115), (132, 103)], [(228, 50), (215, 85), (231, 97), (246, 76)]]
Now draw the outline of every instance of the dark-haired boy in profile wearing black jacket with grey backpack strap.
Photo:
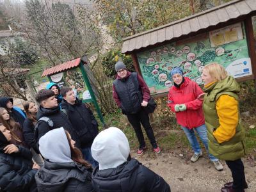
[[(51, 131), (52, 129), (56, 129), (59, 127), (63, 127), (65, 130), (70, 132), (72, 138), (76, 140), (77, 147), (80, 147), (80, 142), (77, 140), (76, 132), (74, 132), (74, 128), (72, 124), (68, 120), (67, 115), (61, 111), (57, 99), (54, 97), (54, 92), (52, 90), (40, 90), (36, 93), (36, 102), (40, 104), (38, 112), (36, 114), (36, 119), (38, 120), (38, 124), (36, 125), (36, 140), (44, 136), (45, 133)], [(42, 118), (47, 118), (47, 120), (42, 120)]]

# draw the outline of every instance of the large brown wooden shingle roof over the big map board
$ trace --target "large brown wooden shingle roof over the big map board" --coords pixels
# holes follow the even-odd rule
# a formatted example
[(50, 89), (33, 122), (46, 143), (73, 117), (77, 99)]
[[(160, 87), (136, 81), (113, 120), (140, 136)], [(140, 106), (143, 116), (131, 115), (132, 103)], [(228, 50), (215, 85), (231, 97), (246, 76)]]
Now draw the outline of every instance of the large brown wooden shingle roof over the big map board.
[(253, 11), (256, 11), (256, 0), (230, 1), (205, 12), (124, 38), (122, 53), (129, 53), (149, 45), (188, 35), (200, 29), (206, 29), (209, 26), (216, 26), (221, 22), (236, 19), (241, 15), (247, 15)]

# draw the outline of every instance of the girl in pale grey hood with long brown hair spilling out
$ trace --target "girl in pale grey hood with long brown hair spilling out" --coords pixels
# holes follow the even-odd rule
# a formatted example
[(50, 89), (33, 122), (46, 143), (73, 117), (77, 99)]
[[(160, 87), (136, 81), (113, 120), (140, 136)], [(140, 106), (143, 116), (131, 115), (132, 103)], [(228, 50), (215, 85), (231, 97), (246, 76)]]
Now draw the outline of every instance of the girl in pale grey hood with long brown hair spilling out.
[(63, 129), (53, 129), (39, 140), (44, 166), (36, 173), (38, 192), (93, 192), (92, 168)]

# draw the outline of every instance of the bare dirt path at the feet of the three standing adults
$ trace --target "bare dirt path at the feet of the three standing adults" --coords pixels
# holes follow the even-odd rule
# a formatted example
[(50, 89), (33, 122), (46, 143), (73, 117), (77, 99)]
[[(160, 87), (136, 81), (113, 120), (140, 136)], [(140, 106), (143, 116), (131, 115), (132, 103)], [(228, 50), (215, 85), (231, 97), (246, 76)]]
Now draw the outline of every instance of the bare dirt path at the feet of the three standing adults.
[[(180, 157), (175, 152), (154, 155), (146, 151), (143, 156), (136, 156), (138, 161), (161, 175), (170, 184), (172, 191), (220, 191), (223, 184), (232, 181), (230, 170), (225, 161), (222, 172), (214, 169), (213, 164), (207, 157), (201, 157), (196, 163), (191, 163), (188, 157)], [(244, 161), (246, 181), (249, 189), (246, 192), (256, 191), (256, 166)]]

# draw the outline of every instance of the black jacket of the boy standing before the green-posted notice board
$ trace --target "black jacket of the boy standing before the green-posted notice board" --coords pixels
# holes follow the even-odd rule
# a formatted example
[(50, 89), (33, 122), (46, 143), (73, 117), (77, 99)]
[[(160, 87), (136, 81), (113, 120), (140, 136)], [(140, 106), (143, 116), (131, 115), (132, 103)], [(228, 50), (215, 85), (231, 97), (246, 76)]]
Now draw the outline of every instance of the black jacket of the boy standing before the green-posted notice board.
[(92, 111), (78, 99), (74, 105), (63, 99), (61, 108), (67, 110), (68, 118), (79, 136), (81, 148), (91, 147), (94, 138), (99, 133), (98, 124)]

